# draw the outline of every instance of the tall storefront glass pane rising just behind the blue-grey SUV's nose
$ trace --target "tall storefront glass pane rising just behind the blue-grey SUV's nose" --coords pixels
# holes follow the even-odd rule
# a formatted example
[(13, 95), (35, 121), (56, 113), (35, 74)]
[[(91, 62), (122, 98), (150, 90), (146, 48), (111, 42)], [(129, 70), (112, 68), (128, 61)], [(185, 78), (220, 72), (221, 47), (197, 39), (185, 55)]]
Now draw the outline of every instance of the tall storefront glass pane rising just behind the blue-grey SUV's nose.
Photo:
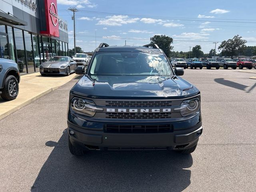
[(25, 50), (22, 30), (14, 28), (15, 45), (18, 58), (18, 68), (20, 73), (26, 72)]

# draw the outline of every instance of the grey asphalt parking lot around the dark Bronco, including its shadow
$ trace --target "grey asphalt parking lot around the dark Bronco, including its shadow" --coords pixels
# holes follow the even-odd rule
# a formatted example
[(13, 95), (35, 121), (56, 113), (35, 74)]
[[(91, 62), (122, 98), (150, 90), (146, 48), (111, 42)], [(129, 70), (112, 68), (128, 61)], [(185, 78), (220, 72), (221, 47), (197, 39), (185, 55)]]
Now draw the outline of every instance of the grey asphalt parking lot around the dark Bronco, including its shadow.
[[(251, 70), (252, 71), (252, 70)], [(255, 70), (256, 72), (256, 70)], [(256, 80), (238, 70), (186, 69), (202, 94), (196, 151), (68, 150), (66, 111), (78, 80), (0, 120), (1, 191), (256, 191)]]

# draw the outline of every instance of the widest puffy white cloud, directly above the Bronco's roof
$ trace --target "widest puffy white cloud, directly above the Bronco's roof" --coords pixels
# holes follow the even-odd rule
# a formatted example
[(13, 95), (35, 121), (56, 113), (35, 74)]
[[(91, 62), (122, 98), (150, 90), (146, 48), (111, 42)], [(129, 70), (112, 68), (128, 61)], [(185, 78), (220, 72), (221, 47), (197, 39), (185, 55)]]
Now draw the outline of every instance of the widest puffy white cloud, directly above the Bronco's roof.
[(101, 18), (96, 25), (122, 26), (123, 24), (136, 23), (139, 18), (130, 18), (127, 15), (113, 15)]

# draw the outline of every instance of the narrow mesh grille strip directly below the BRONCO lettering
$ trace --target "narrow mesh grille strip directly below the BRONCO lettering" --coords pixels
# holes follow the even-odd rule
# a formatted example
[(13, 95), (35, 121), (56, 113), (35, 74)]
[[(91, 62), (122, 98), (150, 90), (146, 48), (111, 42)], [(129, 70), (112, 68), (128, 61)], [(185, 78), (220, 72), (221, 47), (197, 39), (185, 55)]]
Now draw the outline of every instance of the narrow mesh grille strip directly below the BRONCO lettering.
[(109, 119), (164, 119), (171, 118), (171, 113), (106, 113)]

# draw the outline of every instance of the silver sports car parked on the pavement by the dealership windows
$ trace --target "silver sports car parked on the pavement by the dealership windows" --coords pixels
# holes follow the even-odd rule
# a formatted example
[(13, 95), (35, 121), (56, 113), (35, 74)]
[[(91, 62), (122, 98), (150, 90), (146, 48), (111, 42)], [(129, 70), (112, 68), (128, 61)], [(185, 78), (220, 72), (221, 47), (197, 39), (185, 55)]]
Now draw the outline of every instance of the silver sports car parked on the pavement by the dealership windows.
[(63, 74), (69, 76), (75, 72), (76, 62), (68, 56), (53, 56), (40, 65), (40, 74)]

